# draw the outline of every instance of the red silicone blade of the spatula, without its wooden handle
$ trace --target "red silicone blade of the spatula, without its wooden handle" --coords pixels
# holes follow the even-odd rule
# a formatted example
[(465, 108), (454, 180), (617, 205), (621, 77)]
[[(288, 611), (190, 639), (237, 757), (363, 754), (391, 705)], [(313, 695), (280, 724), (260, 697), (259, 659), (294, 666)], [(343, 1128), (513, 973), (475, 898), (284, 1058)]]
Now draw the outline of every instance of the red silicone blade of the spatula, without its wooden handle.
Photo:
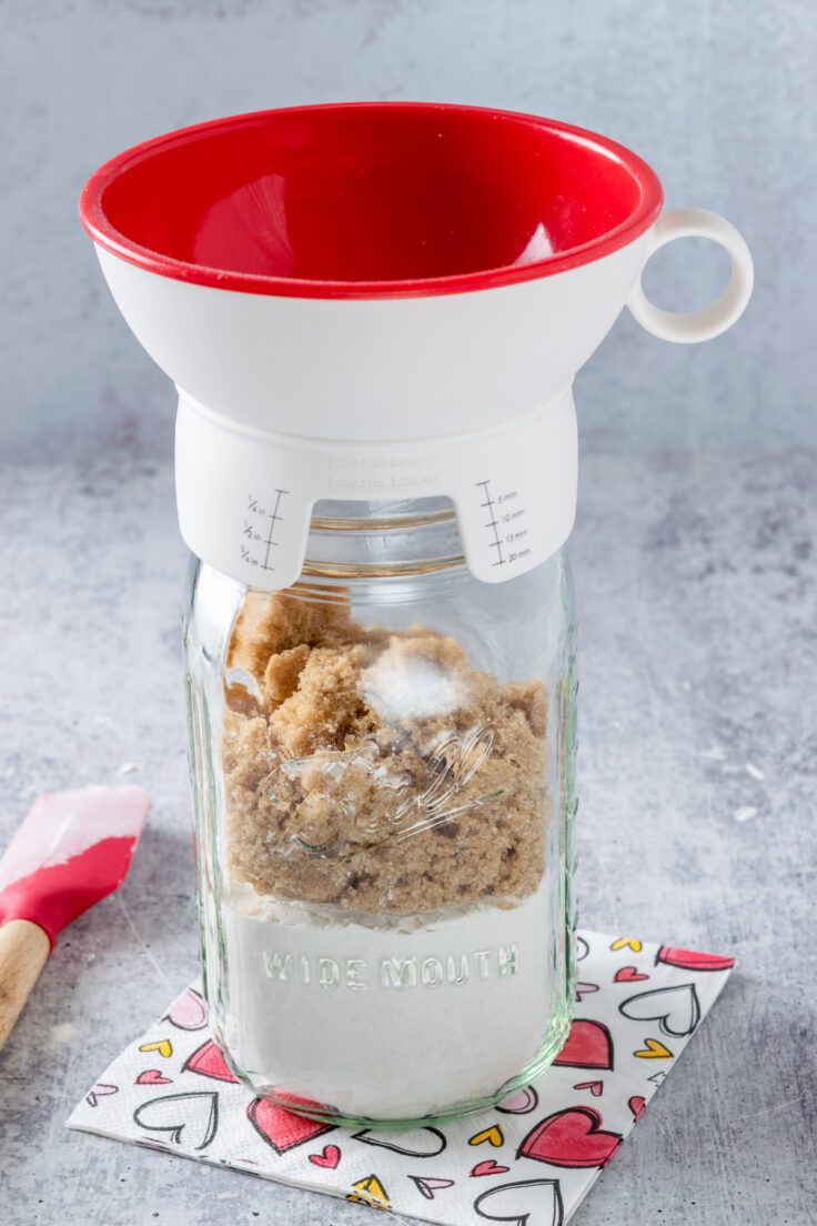
[(0, 858), (0, 923), (31, 920), (54, 944), (121, 885), (149, 805), (141, 787), (40, 796)]

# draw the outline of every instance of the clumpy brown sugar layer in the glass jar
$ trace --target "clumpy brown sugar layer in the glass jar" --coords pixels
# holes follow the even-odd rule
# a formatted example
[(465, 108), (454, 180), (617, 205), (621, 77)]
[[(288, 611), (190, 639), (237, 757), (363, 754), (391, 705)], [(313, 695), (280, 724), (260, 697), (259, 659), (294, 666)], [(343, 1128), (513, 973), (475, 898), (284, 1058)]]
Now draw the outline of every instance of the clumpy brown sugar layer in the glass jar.
[[(450, 636), (252, 593), (227, 657), (227, 842), (261, 895), (407, 913), (513, 906), (541, 878), (548, 696)], [(249, 674), (249, 678), (246, 677)]]

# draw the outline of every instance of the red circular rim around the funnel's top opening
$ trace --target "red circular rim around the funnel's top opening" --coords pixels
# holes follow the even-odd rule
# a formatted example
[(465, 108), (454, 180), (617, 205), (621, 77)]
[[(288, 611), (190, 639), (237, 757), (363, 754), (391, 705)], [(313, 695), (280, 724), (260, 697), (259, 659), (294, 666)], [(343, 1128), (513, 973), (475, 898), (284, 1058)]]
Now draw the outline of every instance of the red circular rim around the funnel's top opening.
[[(525, 251), (516, 257), (521, 262), (476, 267), (448, 275), (377, 280), (355, 276), (354, 280), (323, 280), (312, 276), (282, 276), (243, 271), (234, 267), (217, 267), (207, 260), (194, 262), (179, 259), (173, 253), (143, 245), (118, 228), (110, 217), (105, 195), (111, 186), (119, 185), (121, 190), (122, 180), (135, 169), (140, 168), (140, 172), (145, 173), (145, 168), (149, 163), (153, 163), (154, 168), (159, 163), (167, 166), (168, 157), (173, 156), (174, 152), (180, 150), (189, 152), (197, 145), (203, 148), (203, 143), (209, 139), (246, 135), (263, 129), (265, 125), (271, 129), (276, 124), (290, 121), (322, 125), (323, 128), (334, 123), (358, 123), (359, 128), (363, 128), (367, 123), (382, 123), (388, 116), (398, 121), (425, 124), (426, 126), (429, 123), (439, 124), (441, 128), (448, 124), (451, 132), (454, 132), (457, 125), (465, 124), (469, 125), (469, 131), (475, 134), (478, 140), (480, 136), (488, 139), (489, 134), (492, 139), (499, 131), (508, 136), (525, 137), (528, 141), (541, 140), (549, 145), (551, 151), (559, 150), (560, 156), (573, 157), (577, 164), (583, 161), (583, 166), (590, 169), (592, 190), (583, 191), (581, 200), (584, 210), (595, 210), (597, 221), (593, 224), (598, 224), (599, 233), (538, 259), (525, 254), (528, 251), (525, 248)], [(500, 126), (497, 128), (497, 125)], [(530, 159), (529, 163), (525, 162), (525, 166), (529, 164), (533, 168), (535, 161)], [(265, 170), (265, 174), (267, 173), (274, 175), (274, 166), (271, 164), (268, 172)], [(608, 181), (605, 175), (617, 175), (619, 184), (626, 184), (632, 196), (632, 200), (626, 205), (626, 216), (612, 224), (609, 222), (611, 206), (615, 204), (619, 213), (623, 206), (621, 191), (616, 190), (615, 184)], [(157, 177), (156, 181), (159, 180), (160, 175)], [(533, 186), (535, 188), (535, 184)], [(525, 190), (528, 190), (527, 184)], [(217, 204), (218, 197), (214, 196), (212, 202)], [(173, 201), (164, 204), (171, 207)], [(492, 289), (550, 277), (590, 264), (636, 242), (655, 222), (661, 205), (663, 190), (654, 170), (623, 145), (587, 129), (539, 115), (484, 107), (430, 102), (355, 102), (277, 108), (233, 115), (179, 129), (145, 141), (111, 158), (91, 177), (80, 199), (80, 216), (86, 230), (99, 246), (129, 264), (158, 276), (217, 289), (285, 298), (387, 299)], [(612, 213), (615, 212), (614, 208)], [(605, 217), (608, 221), (604, 219)], [(606, 229), (605, 226), (608, 226)], [(545, 233), (543, 245), (548, 244), (549, 235)]]

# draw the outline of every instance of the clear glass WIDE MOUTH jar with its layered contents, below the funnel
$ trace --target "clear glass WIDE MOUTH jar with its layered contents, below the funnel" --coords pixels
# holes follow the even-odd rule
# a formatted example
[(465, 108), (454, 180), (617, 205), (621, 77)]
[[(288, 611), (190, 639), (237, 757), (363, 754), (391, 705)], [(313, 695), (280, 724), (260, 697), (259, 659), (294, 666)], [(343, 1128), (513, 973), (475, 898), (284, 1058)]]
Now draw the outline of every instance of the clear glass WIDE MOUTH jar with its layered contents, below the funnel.
[(484, 1110), (572, 1015), (567, 559), (484, 584), (446, 500), (315, 511), (284, 592), (191, 565), (213, 1034), (254, 1092), (320, 1119)]

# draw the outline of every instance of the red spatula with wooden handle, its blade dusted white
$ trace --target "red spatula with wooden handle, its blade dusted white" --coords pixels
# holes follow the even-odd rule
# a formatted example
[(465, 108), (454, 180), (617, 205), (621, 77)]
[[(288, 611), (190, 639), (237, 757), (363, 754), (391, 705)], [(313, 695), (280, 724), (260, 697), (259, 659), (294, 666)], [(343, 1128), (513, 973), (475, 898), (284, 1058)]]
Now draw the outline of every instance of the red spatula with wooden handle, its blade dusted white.
[(0, 1047), (66, 924), (125, 880), (151, 798), (141, 787), (40, 796), (0, 859)]

